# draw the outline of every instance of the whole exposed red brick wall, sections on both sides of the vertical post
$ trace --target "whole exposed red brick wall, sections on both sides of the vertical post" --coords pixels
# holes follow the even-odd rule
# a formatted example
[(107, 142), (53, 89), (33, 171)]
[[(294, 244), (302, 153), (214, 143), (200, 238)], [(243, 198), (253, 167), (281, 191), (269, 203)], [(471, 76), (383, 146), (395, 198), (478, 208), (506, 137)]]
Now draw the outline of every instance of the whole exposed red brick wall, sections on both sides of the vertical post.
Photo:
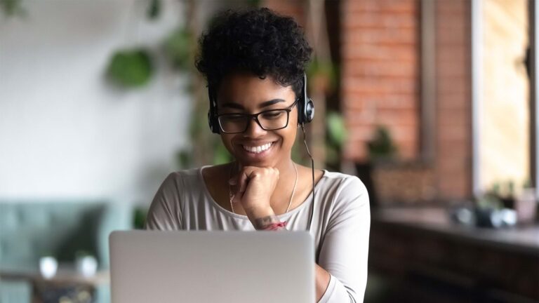
[[(470, 0), (436, 1), (436, 117), (420, 123), (420, 0), (342, 0), (340, 109), (349, 140), (344, 158), (366, 161), (377, 125), (390, 128), (402, 160), (419, 160), (420, 127), (434, 128), (434, 179), (427, 196), (441, 200), (472, 192)], [(266, 0), (264, 6), (305, 25), (305, 1)], [(328, 4), (329, 5), (329, 4)], [(331, 27), (333, 20), (328, 20)], [(418, 189), (422, 191), (423, 189)], [(399, 195), (399, 194), (397, 194)]]

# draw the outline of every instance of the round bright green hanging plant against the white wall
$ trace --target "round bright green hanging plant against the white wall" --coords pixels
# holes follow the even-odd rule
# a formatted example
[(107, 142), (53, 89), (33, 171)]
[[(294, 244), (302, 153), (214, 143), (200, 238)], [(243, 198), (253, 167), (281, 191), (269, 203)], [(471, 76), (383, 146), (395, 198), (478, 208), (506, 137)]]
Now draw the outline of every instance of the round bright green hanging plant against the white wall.
[(145, 86), (152, 74), (152, 60), (144, 49), (118, 50), (107, 67), (109, 79), (124, 88)]

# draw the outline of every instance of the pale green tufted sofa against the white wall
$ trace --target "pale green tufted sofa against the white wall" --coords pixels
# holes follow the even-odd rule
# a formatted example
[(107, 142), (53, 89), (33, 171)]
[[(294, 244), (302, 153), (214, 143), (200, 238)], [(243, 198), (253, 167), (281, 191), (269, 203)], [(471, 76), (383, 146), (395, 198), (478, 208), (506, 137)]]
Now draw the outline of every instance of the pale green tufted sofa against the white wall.
[[(131, 229), (132, 221), (133, 209), (122, 203), (0, 201), (0, 271), (38, 270), (43, 255), (72, 263), (81, 251), (108, 269), (109, 233)], [(108, 302), (107, 288), (98, 289), (98, 302)], [(0, 290), (0, 303), (29, 302), (32, 292), (25, 281), (0, 281)]]

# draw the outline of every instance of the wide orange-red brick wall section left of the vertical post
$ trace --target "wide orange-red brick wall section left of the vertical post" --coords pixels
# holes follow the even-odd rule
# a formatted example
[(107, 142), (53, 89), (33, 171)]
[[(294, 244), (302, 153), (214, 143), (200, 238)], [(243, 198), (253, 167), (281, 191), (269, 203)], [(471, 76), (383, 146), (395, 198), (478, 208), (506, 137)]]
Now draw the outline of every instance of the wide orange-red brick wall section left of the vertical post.
[(367, 159), (375, 126), (390, 129), (401, 159), (418, 156), (419, 6), (416, 0), (343, 1), (345, 158)]

